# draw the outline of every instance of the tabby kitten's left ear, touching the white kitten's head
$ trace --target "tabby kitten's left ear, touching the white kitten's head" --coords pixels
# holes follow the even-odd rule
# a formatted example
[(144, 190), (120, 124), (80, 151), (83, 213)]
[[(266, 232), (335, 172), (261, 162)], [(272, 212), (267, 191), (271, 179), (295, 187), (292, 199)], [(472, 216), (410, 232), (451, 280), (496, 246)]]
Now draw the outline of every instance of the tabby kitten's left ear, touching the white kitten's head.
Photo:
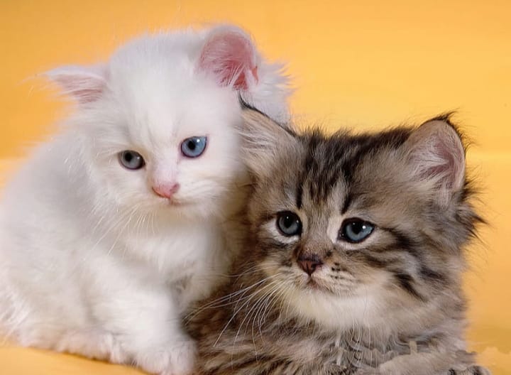
[(268, 177), (278, 155), (285, 155), (282, 148), (298, 145), (296, 135), (290, 128), (251, 107), (243, 109), (241, 138), (243, 161), (251, 173), (259, 178)]

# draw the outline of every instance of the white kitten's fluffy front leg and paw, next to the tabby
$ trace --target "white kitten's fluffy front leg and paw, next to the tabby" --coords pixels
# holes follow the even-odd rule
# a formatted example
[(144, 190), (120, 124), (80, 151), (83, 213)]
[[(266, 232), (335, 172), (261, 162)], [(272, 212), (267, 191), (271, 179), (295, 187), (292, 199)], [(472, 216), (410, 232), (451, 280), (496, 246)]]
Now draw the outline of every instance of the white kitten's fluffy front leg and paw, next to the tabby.
[(124, 363), (136, 364), (151, 374), (191, 373), (195, 343), (182, 330), (172, 290), (131, 280), (108, 297), (94, 306), (94, 315), (126, 352), (128, 362), (124, 359)]

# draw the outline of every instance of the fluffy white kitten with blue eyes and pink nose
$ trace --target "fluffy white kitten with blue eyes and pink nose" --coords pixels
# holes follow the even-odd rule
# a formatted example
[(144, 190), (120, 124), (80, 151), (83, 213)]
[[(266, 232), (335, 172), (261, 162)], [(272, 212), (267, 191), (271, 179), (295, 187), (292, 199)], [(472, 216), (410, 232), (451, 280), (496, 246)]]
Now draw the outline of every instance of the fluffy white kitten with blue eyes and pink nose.
[(188, 373), (180, 313), (229, 263), (238, 92), (287, 121), (279, 73), (231, 26), (141, 38), (105, 65), (49, 72), (77, 112), (6, 186), (0, 332)]

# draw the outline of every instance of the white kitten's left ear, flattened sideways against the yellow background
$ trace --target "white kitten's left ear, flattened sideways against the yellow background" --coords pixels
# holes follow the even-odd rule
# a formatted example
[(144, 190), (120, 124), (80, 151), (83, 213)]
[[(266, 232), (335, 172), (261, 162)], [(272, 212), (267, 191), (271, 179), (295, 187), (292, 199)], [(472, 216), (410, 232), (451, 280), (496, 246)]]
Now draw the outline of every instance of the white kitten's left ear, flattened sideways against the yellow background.
[(105, 65), (57, 67), (45, 75), (60, 86), (62, 94), (69, 95), (80, 104), (99, 99), (106, 87)]

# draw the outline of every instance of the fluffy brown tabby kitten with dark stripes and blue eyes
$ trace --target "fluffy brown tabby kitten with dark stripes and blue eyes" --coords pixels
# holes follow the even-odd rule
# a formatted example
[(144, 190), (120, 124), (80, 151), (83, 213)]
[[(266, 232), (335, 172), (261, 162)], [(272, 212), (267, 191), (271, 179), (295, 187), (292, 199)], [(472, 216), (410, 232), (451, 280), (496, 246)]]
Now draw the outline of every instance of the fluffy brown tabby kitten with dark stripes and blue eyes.
[(449, 116), (358, 136), (245, 121), (249, 238), (188, 316), (199, 374), (489, 374), (463, 338), (482, 220)]

